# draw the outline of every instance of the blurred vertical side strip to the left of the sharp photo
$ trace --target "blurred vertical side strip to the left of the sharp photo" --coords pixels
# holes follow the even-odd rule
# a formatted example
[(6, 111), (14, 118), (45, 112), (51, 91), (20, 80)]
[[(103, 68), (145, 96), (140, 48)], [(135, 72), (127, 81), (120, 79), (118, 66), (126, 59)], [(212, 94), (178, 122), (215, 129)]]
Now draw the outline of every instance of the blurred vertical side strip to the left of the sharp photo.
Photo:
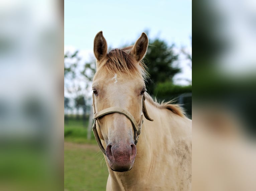
[(2, 191), (63, 189), (62, 65), (63, 3), (0, 1)]

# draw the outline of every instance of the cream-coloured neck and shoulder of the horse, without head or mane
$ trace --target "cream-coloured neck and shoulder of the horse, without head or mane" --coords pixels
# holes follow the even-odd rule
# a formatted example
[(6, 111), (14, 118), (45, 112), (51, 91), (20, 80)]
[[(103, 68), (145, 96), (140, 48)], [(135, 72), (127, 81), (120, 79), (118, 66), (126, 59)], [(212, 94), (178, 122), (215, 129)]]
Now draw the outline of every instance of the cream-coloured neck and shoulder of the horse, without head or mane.
[(191, 190), (191, 120), (149, 101), (146, 107), (154, 121), (144, 119), (134, 165), (115, 172), (107, 163), (107, 191)]

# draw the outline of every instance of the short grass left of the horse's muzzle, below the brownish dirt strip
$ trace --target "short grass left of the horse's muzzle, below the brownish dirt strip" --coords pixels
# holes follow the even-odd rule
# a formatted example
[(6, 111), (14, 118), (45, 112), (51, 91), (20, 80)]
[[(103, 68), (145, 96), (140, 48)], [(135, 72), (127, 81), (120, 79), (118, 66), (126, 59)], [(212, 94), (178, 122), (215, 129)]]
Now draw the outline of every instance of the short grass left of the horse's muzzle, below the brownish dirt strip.
[(108, 169), (97, 145), (65, 142), (64, 166), (66, 191), (106, 190)]

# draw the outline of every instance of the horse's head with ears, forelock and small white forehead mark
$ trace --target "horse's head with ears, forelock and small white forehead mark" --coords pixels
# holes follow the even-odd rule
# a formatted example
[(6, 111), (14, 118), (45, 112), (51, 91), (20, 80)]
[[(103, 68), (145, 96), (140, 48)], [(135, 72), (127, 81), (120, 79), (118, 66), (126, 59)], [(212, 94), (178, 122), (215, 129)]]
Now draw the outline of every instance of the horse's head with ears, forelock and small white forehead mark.
[(141, 61), (147, 47), (148, 38), (145, 33), (141, 34), (134, 46), (113, 49), (109, 53), (102, 31), (94, 39), (94, 112), (97, 114), (108, 108), (110, 111), (111, 108), (120, 111), (106, 111), (102, 116), (95, 117), (98, 137), (106, 147), (102, 150), (105, 149), (108, 164), (114, 171), (130, 170), (136, 157), (138, 131), (134, 126), (140, 128), (142, 123), (144, 78), (147, 73)]

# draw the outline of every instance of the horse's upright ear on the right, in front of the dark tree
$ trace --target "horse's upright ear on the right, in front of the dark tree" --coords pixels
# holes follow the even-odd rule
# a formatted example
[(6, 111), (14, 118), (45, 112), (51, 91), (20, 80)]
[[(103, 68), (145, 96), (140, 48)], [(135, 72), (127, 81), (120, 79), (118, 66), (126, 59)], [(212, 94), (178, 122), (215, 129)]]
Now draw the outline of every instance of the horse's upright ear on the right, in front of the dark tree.
[(132, 50), (131, 50), (131, 55), (135, 58), (137, 62), (141, 61), (148, 48), (148, 37), (146, 33), (142, 33), (136, 43), (134, 44)]

